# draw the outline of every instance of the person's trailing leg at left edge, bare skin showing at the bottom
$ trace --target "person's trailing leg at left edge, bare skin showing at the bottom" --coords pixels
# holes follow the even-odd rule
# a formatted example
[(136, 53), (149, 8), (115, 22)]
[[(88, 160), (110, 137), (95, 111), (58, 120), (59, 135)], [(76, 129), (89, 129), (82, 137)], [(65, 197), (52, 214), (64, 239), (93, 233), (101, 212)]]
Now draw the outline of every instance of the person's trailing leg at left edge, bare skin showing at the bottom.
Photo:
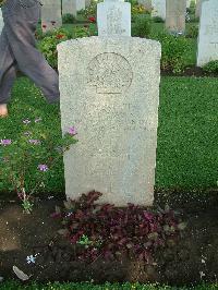
[(16, 78), (16, 63), (9, 46), (5, 29), (0, 36), (0, 117), (8, 116), (7, 104), (11, 98), (11, 88)]

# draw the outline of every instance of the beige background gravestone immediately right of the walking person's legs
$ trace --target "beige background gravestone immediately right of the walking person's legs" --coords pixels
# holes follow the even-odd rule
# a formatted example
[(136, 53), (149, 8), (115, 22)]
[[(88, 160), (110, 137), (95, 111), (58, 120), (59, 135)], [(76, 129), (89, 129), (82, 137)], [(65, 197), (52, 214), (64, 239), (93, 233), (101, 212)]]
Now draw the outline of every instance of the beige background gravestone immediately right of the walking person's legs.
[(44, 33), (62, 25), (61, 1), (41, 0), (41, 29)]

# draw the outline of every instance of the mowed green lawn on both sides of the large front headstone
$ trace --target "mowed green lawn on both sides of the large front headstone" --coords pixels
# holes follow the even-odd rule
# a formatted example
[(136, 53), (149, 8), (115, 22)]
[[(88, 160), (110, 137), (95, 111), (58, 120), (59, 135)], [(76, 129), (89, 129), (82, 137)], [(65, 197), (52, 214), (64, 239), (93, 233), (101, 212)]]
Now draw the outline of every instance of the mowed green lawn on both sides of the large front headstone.
[[(157, 189), (215, 188), (218, 181), (218, 80), (162, 77), (156, 166)], [(17, 78), (9, 107), (10, 117), (0, 120), (0, 140), (19, 140), (41, 118), (40, 130), (49, 137), (61, 136), (59, 108), (47, 105), (39, 89), (27, 77)], [(23, 120), (29, 119), (29, 125)], [(56, 156), (56, 152), (51, 152)], [(1, 165), (2, 167), (4, 164)], [(48, 193), (64, 192), (63, 164), (48, 174)], [(8, 189), (7, 177), (1, 177)], [(34, 180), (34, 176), (32, 177)]]

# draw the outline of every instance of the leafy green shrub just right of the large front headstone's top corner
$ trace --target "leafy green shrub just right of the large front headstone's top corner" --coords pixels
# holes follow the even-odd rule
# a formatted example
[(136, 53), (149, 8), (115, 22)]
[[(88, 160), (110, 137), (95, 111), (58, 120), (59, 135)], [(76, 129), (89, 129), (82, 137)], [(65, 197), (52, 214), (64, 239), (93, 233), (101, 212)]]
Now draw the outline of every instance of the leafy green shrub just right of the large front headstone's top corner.
[(154, 39), (161, 44), (161, 69), (173, 73), (181, 73), (186, 67), (185, 52), (190, 49), (190, 43), (184, 36), (174, 36), (168, 33), (153, 35)]

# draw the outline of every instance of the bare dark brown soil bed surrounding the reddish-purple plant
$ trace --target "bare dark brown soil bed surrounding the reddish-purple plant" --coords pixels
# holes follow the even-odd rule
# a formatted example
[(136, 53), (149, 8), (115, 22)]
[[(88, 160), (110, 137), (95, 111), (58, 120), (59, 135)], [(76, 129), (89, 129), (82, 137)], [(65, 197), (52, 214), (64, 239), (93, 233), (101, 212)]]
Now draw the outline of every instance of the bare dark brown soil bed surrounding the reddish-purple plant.
[[(192, 196), (192, 197), (191, 197)], [(201, 196), (201, 197), (199, 197)], [(32, 215), (23, 214), (15, 202), (0, 202), (0, 276), (14, 278), (13, 265), (38, 281), (159, 281), (189, 285), (216, 281), (218, 276), (218, 194), (156, 193), (155, 206), (170, 204), (183, 212), (187, 227), (174, 245), (160, 249), (156, 264), (148, 266), (122, 256), (120, 261), (80, 262), (75, 249), (57, 233), (61, 228), (50, 217), (55, 198), (38, 201)], [(38, 254), (35, 264), (26, 257)]]

